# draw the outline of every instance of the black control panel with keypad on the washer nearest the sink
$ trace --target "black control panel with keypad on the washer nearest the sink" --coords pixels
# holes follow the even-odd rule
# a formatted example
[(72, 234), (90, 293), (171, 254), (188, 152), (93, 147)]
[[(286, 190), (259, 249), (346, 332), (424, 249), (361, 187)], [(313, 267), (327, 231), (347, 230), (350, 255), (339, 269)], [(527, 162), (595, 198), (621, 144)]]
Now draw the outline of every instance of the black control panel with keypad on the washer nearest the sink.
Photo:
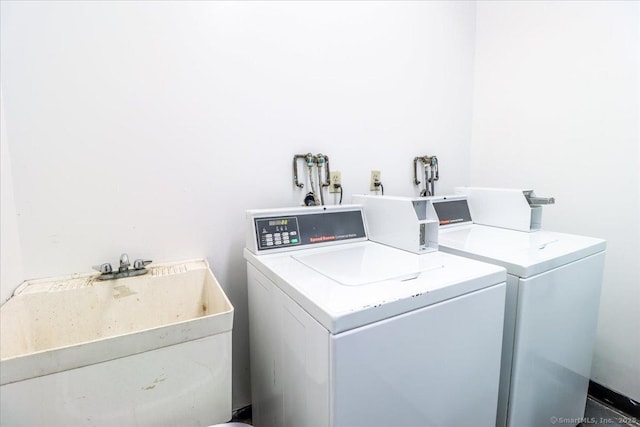
[(259, 250), (367, 237), (360, 210), (256, 218), (255, 227)]

